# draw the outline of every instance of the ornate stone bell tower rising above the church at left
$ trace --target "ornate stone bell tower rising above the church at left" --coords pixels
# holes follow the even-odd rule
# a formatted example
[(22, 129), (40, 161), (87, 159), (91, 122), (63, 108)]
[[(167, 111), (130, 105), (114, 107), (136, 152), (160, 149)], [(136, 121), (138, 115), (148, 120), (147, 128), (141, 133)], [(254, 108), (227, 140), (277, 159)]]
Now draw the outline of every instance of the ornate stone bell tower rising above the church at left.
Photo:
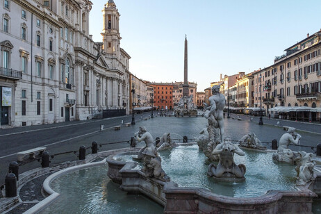
[(101, 35), (103, 36), (103, 44), (105, 53), (115, 54), (120, 53), (120, 13), (116, 8), (113, 0), (108, 0), (104, 9), (101, 10), (104, 17), (104, 29)]

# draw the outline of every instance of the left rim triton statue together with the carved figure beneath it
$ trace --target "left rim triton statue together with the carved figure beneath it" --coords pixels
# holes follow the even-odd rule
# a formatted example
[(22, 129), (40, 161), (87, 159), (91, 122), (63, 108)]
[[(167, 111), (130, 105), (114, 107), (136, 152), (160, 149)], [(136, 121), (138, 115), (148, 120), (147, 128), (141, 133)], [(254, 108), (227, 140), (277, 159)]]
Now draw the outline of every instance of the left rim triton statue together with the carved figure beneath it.
[(142, 172), (147, 176), (161, 181), (170, 181), (170, 178), (165, 174), (161, 165), (161, 157), (156, 150), (154, 138), (144, 126), (140, 127), (140, 131), (135, 133), (135, 138), (138, 142), (145, 141), (146, 146), (138, 152), (138, 159), (142, 160)]

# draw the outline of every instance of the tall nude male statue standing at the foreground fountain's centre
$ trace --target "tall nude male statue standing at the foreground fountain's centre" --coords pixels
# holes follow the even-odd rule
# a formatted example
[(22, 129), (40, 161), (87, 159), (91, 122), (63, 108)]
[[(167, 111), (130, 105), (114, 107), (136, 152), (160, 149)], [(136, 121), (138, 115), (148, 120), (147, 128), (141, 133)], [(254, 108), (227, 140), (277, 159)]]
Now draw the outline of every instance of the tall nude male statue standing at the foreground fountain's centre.
[(208, 122), (211, 122), (215, 128), (220, 129), (221, 142), (224, 142), (224, 117), (223, 109), (225, 106), (225, 97), (220, 94), (220, 85), (213, 85), (212, 96), (208, 99), (211, 106), (205, 113), (205, 117), (208, 118)]

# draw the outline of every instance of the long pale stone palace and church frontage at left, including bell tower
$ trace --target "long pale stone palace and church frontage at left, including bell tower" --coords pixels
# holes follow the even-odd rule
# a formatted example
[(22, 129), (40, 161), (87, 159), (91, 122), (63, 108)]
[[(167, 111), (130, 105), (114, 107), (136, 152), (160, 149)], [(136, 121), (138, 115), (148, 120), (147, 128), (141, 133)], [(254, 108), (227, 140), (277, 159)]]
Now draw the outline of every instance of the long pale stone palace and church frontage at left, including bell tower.
[(1, 127), (129, 113), (129, 59), (120, 13), (103, 8), (102, 42), (89, 33), (88, 0), (1, 1)]

